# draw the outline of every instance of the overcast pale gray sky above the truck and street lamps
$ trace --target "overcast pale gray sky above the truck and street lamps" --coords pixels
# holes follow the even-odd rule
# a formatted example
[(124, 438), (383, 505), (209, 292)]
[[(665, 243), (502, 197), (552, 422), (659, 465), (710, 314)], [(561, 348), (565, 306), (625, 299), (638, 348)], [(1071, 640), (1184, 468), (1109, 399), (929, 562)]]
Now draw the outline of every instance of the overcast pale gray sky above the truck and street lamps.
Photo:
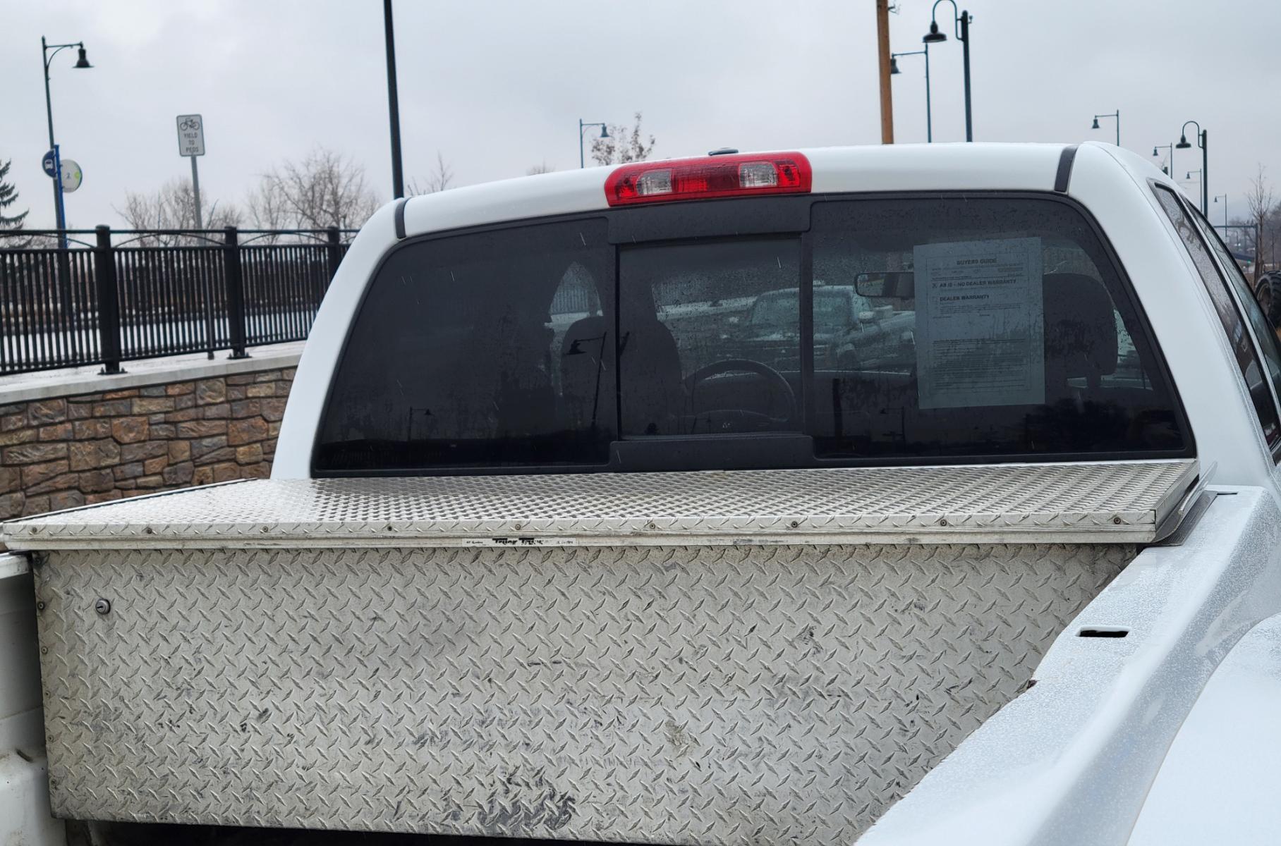
[[(241, 202), (257, 174), (320, 145), (391, 197), (379, 0), (0, 0), (0, 159), (29, 228), (53, 225), (40, 36), (81, 41), (54, 61), (54, 127), (85, 172), (68, 223), (119, 225), (126, 191), (190, 174), (174, 115), (201, 113), (202, 193)], [(898, 0), (894, 51), (918, 50), (929, 0)], [(1281, 183), (1278, 0), (971, 0), (976, 141), (1112, 140), (1150, 157), (1184, 120), (1209, 131), (1211, 192), (1234, 216), (1258, 163)], [(951, 5), (939, 8), (951, 15)], [(944, 31), (951, 29), (944, 24)], [(406, 178), (439, 151), (456, 184), (578, 166), (578, 119), (644, 113), (657, 156), (876, 143), (872, 0), (516, 3), (398, 0)], [(935, 141), (963, 140), (961, 46), (931, 49)], [(897, 140), (925, 140), (920, 58), (894, 77)], [(1176, 173), (1200, 166), (1176, 154)], [(1189, 184), (1190, 195), (1199, 192)], [(12, 209), (10, 209), (12, 211)], [(1222, 206), (1211, 206), (1222, 220)]]

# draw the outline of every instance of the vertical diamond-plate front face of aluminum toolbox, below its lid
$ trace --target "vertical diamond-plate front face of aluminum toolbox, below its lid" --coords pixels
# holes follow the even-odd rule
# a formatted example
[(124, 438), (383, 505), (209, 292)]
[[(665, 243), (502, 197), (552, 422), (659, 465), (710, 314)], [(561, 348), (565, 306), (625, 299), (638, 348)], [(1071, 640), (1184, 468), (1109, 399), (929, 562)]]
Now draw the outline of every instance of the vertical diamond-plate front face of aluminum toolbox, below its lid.
[[(1127, 545), (65, 550), (60, 817), (848, 843)], [(95, 611), (106, 599), (110, 611)]]

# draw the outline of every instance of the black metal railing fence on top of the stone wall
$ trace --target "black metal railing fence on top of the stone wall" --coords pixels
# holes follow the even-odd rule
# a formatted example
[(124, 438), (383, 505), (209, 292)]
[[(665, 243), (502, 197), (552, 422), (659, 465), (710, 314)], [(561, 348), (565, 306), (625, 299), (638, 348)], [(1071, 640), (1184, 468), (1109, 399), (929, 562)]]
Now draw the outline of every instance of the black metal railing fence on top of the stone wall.
[(354, 232), (0, 233), (0, 374), (304, 340)]

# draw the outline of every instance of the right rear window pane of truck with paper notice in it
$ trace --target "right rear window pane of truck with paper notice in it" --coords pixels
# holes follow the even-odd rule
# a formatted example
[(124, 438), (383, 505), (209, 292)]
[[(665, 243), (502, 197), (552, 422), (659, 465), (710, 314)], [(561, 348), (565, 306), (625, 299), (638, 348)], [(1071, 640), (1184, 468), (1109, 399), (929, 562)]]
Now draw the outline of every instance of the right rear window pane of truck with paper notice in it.
[(824, 457), (1144, 453), (1185, 445), (1173, 394), (1084, 218), (1036, 200), (813, 207), (815, 293), (872, 310), (815, 325)]

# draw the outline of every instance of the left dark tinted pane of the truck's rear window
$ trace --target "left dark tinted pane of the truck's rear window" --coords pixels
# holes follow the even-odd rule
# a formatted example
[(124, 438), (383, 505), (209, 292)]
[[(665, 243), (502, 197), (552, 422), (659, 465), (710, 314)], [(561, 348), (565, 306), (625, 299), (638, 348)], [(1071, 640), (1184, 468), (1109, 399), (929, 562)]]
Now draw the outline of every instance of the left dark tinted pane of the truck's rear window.
[(316, 466), (603, 463), (617, 433), (612, 291), (601, 220), (397, 250), (347, 340)]

